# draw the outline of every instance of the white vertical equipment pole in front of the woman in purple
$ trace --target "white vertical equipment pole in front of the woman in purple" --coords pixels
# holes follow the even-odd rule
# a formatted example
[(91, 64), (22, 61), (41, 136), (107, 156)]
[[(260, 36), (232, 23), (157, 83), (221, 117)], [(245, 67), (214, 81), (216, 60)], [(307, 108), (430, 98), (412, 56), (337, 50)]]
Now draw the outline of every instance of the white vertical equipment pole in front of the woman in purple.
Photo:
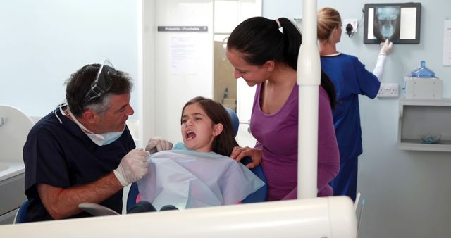
[(316, 197), (318, 174), (318, 99), (321, 63), (316, 43), (316, 0), (302, 6), (302, 44), (297, 60), (299, 84), (299, 128), (297, 198)]

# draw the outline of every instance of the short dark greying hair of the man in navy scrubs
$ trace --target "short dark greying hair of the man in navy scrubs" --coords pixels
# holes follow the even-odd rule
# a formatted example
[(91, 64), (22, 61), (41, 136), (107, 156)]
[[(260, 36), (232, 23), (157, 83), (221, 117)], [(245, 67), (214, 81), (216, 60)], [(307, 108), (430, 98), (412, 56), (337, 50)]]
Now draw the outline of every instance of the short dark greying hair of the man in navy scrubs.
[(109, 108), (109, 99), (112, 94), (125, 94), (130, 92), (133, 87), (132, 77), (128, 73), (104, 65), (101, 77), (108, 77), (111, 80), (110, 89), (95, 99), (85, 101), (85, 96), (91, 89), (91, 84), (94, 82), (99, 68), (99, 64), (85, 65), (66, 80), (66, 101), (70, 112), (75, 117), (80, 117), (86, 108), (95, 108), (94, 111), (97, 113), (104, 113)]

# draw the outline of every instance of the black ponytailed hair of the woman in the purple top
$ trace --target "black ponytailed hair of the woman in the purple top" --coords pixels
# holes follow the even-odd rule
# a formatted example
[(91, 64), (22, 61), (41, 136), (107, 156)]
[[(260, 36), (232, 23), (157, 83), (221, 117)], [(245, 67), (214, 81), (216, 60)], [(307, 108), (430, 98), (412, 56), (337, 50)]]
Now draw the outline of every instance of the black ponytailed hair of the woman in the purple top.
[[(283, 32), (279, 30), (278, 22)], [(276, 61), (297, 70), (301, 32), (287, 18), (278, 18), (278, 22), (264, 17), (243, 21), (228, 37), (227, 49), (239, 51), (250, 65), (261, 66), (266, 61)], [(335, 108), (335, 87), (322, 71), (321, 86), (326, 89), (330, 106)]]

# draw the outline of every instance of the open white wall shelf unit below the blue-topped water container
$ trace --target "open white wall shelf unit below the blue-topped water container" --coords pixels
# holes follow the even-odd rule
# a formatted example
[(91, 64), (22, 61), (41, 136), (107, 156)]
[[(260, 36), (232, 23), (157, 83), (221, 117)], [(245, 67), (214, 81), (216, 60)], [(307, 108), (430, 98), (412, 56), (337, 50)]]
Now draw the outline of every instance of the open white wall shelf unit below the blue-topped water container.
[[(441, 134), (437, 144), (423, 144), (425, 134)], [(451, 152), (451, 99), (400, 99), (398, 147), (412, 151)]]

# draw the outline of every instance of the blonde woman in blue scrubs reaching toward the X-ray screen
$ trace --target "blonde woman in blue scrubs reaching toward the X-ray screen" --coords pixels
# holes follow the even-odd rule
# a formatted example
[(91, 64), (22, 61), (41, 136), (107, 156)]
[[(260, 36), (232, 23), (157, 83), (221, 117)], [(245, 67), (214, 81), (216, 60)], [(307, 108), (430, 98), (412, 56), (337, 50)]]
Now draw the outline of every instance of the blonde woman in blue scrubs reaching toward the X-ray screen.
[(333, 8), (318, 11), (319, 54), (321, 69), (330, 78), (337, 92), (333, 123), (340, 150), (340, 173), (330, 182), (334, 195), (346, 195), (355, 201), (357, 192), (357, 157), (362, 154), (359, 94), (376, 97), (381, 85), (385, 58), (393, 49), (386, 40), (381, 44), (373, 72), (365, 69), (355, 56), (337, 51), (342, 34), (340, 13)]

